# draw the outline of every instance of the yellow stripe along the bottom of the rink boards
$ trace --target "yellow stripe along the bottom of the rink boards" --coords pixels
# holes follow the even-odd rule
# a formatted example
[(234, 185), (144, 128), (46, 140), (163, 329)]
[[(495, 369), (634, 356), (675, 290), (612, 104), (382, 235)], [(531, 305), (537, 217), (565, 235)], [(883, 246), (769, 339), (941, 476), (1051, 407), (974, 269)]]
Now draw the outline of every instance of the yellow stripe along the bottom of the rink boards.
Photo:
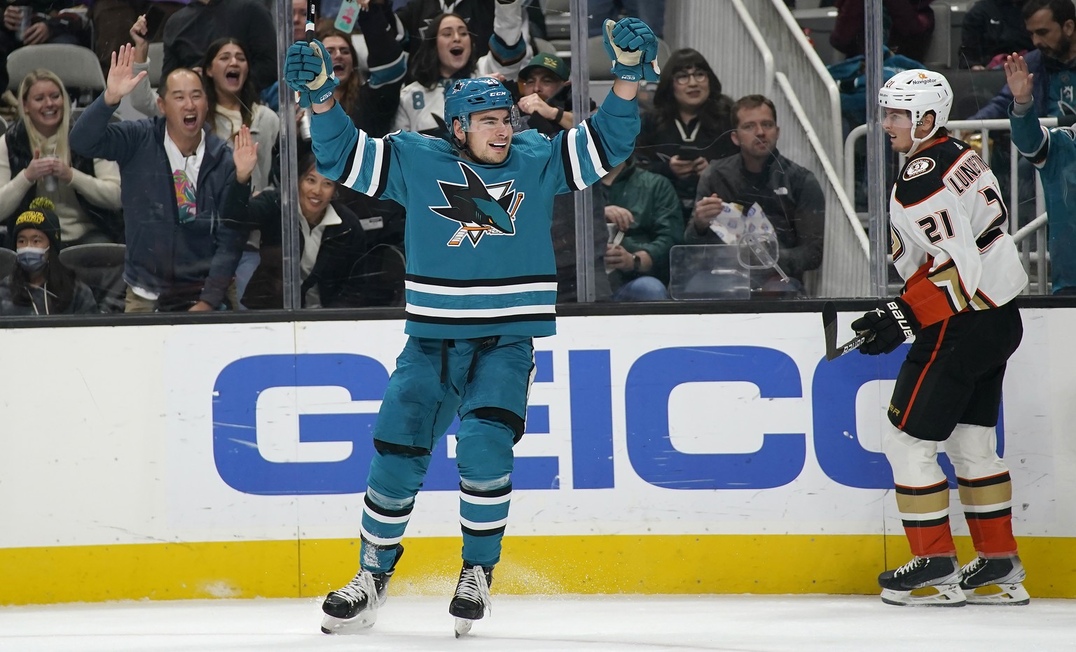
[[(1076, 597), (1076, 538), (1022, 537), (1025, 586)], [(392, 593), (451, 594), (459, 539), (409, 538)], [(962, 562), (974, 552), (958, 537)], [(647, 535), (507, 537), (494, 591), (873, 594), (910, 557), (903, 536)], [(301, 561), (301, 563), (300, 563)], [(313, 597), (355, 574), (352, 540), (0, 549), (0, 605), (118, 599)]]

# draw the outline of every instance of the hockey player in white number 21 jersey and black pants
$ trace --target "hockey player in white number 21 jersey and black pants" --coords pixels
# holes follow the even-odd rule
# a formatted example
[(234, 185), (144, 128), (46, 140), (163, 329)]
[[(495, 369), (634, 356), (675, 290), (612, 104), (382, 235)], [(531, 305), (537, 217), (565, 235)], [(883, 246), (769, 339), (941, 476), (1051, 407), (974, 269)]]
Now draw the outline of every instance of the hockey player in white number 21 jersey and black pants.
[[(915, 557), (878, 577), (881, 597), (893, 605), (1027, 604), (1011, 481), (995, 433), (1006, 361), (1023, 334), (1013, 300), (1028, 282), (1005, 230), (1008, 209), (990, 168), (945, 129), (952, 91), (943, 75), (902, 72), (878, 91), (878, 103), (893, 149), (908, 155), (890, 199), (893, 264), (905, 286), (852, 328), (873, 334), (860, 347), (872, 356), (916, 336), (882, 435)], [(963, 568), (937, 463), (940, 441), (977, 551)], [(937, 592), (911, 594), (925, 586)]]

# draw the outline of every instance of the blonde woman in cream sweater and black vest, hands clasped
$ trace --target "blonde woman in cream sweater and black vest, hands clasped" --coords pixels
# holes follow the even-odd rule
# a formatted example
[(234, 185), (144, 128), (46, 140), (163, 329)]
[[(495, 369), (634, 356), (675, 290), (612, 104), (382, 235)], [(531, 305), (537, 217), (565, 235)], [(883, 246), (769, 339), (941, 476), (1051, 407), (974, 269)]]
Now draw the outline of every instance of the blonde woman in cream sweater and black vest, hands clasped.
[(65, 246), (123, 242), (119, 166), (68, 145), (71, 101), (56, 73), (30, 71), (18, 86), (18, 120), (0, 136), (0, 221), (36, 197), (55, 205)]

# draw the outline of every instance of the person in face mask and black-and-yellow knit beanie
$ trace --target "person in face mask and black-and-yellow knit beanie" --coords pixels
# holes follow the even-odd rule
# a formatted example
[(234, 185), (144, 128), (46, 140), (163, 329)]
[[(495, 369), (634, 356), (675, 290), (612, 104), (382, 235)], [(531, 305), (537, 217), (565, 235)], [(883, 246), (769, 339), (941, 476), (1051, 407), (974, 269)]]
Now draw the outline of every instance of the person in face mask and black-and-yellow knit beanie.
[(9, 234), (18, 262), (0, 280), (0, 315), (94, 315), (94, 292), (60, 262), (60, 220), (52, 202), (38, 198), (15, 218)]

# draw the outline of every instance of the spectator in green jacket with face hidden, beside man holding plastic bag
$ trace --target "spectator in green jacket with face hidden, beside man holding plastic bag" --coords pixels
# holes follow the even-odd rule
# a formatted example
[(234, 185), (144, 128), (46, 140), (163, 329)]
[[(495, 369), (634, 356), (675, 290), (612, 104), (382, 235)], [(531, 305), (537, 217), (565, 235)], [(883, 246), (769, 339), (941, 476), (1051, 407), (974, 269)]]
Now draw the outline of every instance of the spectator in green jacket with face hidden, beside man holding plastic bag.
[(636, 166), (634, 157), (601, 178), (606, 221), (623, 240), (606, 248), (613, 301), (669, 299), (669, 249), (683, 244), (680, 199), (667, 178)]

